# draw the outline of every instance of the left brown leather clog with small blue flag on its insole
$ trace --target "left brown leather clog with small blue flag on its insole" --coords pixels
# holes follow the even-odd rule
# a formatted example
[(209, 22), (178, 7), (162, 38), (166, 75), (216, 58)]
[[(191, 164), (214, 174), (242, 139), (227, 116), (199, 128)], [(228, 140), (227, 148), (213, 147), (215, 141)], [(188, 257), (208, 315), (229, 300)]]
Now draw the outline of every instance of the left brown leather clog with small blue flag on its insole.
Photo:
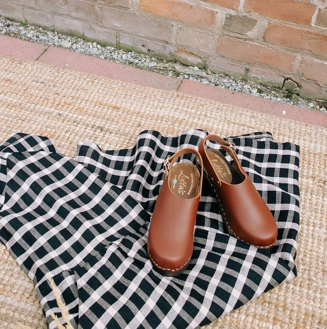
[[(177, 163), (183, 154), (198, 151), (183, 148), (164, 163), (166, 175), (150, 221), (148, 255), (154, 268), (166, 276), (176, 276), (190, 262), (194, 225), (201, 198), (201, 174), (194, 164)], [(203, 166), (202, 166), (203, 168)]]

